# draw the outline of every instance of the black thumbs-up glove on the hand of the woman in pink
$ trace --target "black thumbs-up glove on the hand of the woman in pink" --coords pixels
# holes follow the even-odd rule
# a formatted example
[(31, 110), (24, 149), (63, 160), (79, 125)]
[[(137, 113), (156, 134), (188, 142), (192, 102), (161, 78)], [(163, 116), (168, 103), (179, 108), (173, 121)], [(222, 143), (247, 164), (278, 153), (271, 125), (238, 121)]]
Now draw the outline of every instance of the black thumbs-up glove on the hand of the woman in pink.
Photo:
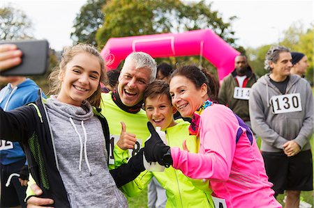
[(161, 166), (169, 167), (173, 162), (170, 147), (163, 143), (151, 122), (147, 122), (147, 127), (151, 132), (151, 138), (145, 143), (145, 158), (148, 162), (157, 161)]

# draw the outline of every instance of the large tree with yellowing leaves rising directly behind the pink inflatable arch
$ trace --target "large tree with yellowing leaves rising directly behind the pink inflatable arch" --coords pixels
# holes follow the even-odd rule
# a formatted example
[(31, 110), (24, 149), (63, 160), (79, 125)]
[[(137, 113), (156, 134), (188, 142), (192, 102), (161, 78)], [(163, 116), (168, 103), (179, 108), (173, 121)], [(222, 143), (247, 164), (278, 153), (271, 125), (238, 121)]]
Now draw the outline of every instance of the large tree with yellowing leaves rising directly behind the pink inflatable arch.
[(226, 42), (234, 45), (232, 20), (223, 22), (211, 3), (184, 3), (179, 0), (112, 0), (103, 7), (105, 20), (96, 33), (98, 45), (112, 37), (177, 33), (195, 29), (212, 29)]

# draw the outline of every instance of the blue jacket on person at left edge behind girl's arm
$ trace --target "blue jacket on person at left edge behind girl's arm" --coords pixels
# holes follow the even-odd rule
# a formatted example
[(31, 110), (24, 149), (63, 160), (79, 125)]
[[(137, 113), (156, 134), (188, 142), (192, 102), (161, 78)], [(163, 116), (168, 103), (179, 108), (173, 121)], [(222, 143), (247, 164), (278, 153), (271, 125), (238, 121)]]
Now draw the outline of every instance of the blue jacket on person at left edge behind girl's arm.
[[(27, 79), (12, 88), (10, 83), (0, 91), (0, 107), (3, 111), (11, 111), (29, 102), (36, 101), (38, 86), (31, 79)], [(1, 150), (4, 145), (13, 145), (13, 148)], [(25, 159), (25, 154), (18, 142), (0, 141), (0, 163), (8, 165)]]

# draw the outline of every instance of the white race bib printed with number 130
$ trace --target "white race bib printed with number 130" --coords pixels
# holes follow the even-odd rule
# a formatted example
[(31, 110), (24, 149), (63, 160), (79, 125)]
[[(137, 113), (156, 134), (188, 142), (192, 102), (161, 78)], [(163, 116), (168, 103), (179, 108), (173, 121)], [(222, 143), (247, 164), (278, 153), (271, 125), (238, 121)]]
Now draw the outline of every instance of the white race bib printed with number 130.
[(270, 102), (275, 114), (302, 111), (300, 93), (273, 96)]

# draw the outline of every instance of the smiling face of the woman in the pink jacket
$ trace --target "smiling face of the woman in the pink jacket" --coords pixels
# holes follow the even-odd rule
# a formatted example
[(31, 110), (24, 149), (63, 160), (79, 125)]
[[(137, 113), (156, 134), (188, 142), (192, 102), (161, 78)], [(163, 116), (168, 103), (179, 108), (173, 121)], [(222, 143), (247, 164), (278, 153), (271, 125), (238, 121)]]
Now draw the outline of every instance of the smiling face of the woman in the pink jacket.
[(192, 118), (194, 112), (207, 99), (207, 85), (205, 83), (197, 89), (195, 84), (184, 76), (177, 75), (170, 81), (170, 95), (172, 104), (183, 117)]

